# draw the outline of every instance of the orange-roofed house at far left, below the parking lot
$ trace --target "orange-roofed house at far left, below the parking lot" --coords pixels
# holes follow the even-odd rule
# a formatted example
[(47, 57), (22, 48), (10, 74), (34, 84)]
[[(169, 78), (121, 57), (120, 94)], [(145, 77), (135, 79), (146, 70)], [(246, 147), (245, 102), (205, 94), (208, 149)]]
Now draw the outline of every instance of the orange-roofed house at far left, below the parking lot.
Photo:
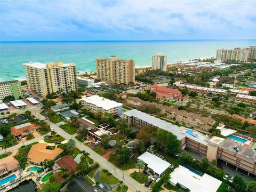
[(14, 137), (18, 137), (20, 135), (28, 134), (30, 132), (34, 132), (38, 129), (34, 123), (24, 123), (21, 125), (11, 127), (11, 134)]

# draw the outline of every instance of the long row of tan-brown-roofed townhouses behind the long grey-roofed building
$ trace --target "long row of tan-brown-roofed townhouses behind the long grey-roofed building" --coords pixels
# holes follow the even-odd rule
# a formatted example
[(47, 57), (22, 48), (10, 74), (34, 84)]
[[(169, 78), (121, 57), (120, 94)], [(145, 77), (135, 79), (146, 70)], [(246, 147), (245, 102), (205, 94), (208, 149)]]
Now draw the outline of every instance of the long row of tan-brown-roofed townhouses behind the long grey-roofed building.
[(174, 122), (178, 122), (188, 127), (196, 127), (203, 131), (209, 131), (215, 124), (214, 119), (211, 117), (202, 117), (194, 113), (188, 113), (185, 110), (178, 110), (174, 107), (151, 103), (149, 101), (143, 101), (135, 97), (129, 97), (125, 100), (125, 102), (126, 105), (130, 105), (131, 107), (138, 107), (142, 111), (145, 107), (157, 108), (160, 110), (159, 114), (165, 114), (165, 118), (171, 119)]

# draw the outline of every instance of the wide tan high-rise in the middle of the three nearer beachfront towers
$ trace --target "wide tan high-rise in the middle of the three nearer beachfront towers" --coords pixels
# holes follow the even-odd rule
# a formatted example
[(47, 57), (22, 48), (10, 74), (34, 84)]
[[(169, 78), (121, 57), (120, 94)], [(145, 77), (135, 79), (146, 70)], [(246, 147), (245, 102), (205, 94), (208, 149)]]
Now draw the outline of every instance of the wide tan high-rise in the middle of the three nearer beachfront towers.
[(113, 84), (129, 84), (135, 81), (134, 60), (119, 59), (111, 55), (109, 59), (96, 59), (97, 79)]

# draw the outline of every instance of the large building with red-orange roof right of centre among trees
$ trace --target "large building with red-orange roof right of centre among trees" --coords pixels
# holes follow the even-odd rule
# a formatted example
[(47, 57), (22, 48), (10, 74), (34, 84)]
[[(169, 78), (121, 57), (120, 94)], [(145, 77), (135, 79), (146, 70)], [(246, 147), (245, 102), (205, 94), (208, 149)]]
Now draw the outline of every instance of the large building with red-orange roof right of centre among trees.
[(169, 87), (159, 86), (157, 84), (151, 85), (150, 92), (156, 93), (157, 100), (178, 100), (178, 101), (186, 101), (187, 98), (185, 95), (182, 95), (179, 90), (171, 89)]

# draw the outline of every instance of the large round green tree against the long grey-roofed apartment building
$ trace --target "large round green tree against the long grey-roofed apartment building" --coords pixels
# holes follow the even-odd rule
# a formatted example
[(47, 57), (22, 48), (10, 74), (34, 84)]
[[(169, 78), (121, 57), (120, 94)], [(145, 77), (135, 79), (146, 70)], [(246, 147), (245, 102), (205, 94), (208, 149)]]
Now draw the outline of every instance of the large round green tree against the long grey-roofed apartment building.
[(162, 129), (156, 132), (156, 141), (163, 146), (165, 153), (172, 155), (178, 154), (180, 151), (180, 142), (177, 136), (169, 131)]

